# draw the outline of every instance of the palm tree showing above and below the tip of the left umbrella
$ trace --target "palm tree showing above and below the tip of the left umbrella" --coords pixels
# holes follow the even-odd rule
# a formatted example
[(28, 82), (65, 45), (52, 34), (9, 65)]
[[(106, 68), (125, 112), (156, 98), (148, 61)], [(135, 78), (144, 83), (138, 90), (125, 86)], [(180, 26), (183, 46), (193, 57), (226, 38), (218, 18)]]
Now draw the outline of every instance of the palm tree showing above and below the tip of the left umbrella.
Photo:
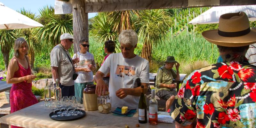
[[(36, 14), (25, 10), (25, 8), (21, 8), (20, 13), (32, 20), (37, 20)], [(31, 69), (33, 69), (35, 52), (40, 51), (41, 48), (41, 43), (39, 42), (38, 36), (36, 35), (36, 28), (16, 29), (16, 33), (17, 36), (24, 37), (27, 40), (28, 45), (30, 46), (30, 50), (28, 51), (28, 57), (30, 58), (30, 67)]]

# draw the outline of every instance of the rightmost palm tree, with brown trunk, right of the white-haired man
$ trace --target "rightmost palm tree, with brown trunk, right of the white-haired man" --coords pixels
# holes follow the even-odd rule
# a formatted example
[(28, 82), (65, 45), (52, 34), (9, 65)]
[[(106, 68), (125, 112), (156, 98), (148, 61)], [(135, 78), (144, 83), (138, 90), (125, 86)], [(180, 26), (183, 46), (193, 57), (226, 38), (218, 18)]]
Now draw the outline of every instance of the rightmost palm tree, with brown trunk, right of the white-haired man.
[(139, 38), (143, 40), (141, 57), (151, 61), (152, 45), (163, 43), (170, 28), (170, 18), (162, 10), (141, 10), (136, 13), (136, 28), (139, 30)]

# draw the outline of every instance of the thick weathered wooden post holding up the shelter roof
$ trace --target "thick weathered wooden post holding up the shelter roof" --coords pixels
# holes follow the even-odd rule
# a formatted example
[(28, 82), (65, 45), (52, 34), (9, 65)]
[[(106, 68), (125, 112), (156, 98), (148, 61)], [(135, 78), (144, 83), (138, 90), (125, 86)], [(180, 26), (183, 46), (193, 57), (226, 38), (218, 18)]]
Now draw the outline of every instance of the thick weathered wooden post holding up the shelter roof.
[(79, 40), (82, 38), (89, 40), (88, 13), (85, 13), (84, 0), (70, 0), (70, 2), (73, 8), (74, 53), (76, 53), (80, 50)]

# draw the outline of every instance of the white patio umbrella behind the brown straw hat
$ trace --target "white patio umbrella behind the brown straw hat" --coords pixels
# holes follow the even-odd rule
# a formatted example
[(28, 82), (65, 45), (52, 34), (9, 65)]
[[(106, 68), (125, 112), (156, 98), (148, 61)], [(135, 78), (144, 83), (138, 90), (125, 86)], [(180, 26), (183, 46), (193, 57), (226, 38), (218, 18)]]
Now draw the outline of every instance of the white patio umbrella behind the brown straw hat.
[(256, 5), (219, 6), (205, 11), (188, 24), (213, 24), (219, 23), (220, 15), (233, 12), (245, 12), (250, 21), (256, 20)]

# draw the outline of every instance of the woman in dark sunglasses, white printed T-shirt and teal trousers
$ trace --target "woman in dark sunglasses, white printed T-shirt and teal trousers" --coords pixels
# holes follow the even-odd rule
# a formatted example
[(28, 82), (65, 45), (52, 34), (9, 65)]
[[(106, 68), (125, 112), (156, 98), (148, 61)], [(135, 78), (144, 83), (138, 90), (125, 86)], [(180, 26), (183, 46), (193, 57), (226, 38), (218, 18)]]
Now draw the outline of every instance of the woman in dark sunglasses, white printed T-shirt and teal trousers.
[(87, 84), (93, 84), (92, 71), (96, 69), (96, 64), (93, 55), (87, 52), (89, 42), (83, 38), (79, 41), (80, 51), (75, 53), (73, 59), (79, 58), (76, 64), (76, 72), (78, 77), (75, 80), (75, 96), (83, 97), (83, 90)]

